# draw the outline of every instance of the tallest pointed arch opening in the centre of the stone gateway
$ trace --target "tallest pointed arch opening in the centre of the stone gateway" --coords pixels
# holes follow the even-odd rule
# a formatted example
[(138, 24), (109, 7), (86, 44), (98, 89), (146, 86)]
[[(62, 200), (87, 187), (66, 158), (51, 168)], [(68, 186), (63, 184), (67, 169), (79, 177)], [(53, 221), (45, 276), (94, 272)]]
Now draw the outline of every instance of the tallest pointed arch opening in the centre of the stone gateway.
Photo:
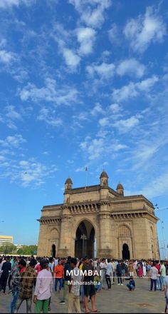
[(82, 221), (75, 234), (75, 257), (94, 257), (95, 250), (95, 228), (90, 221)]

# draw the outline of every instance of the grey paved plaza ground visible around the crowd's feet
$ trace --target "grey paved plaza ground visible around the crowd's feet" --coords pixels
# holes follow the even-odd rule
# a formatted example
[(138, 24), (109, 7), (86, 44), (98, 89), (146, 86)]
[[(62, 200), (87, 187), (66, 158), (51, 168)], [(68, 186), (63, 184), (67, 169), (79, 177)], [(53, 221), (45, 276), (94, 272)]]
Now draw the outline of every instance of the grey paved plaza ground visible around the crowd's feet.
[[(116, 279), (115, 279), (116, 281)], [(164, 293), (149, 292), (147, 278), (137, 278), (136, 290), (130, 292), (125, 285), (112, 285), (111, 290), (102, 290), (96, 295), (96, 307), (101, 313), (162, 313), (165, 308)], [(125, 283), (127, 283), (125, 281)], [(50, 313), (68, 313), (67, 304), (60, 305), (61, 294), (53, 293)], [(0, 294), (0, 313), (9, 313), (11, 294)], [(83, 311), (83, 308), (82, 308)], [(84, 312), (84, 311), (83, 311)], [(21, 305), (19, 313), (26, 313), (25, 304)], [(32, 306), (32, 313), (34, 313)]]

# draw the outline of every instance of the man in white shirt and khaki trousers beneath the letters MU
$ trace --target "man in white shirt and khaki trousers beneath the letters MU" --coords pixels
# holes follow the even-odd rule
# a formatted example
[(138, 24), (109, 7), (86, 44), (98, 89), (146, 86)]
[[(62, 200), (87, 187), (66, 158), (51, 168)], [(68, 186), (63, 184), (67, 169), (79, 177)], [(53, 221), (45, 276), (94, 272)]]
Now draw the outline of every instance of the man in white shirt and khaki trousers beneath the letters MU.
[(76, 267), (77, 259), (72, 258), (70, 266), (73, 269), (71, 275), (70, 285), (69, 285), (69, 295), (68, 295), (68, 313), (74, 313), (73, 307), (76, 313), (81, 313), (80, 310), (80, 285), (82, 283), (82, 275), (80, 274), (80, 269)]

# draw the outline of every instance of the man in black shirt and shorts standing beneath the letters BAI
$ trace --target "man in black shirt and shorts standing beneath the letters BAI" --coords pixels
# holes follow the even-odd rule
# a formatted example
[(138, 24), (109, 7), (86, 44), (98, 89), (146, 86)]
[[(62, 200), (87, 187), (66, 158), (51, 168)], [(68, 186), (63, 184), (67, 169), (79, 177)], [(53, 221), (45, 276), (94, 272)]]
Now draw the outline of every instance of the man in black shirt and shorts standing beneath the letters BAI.
[(88, 296), (90, 296), (91, 299), (92, 312), (98, 312), (98, 310), (95, 308), (95, 285), (93, 270), (93, 265), (90, 263), (88, 256), (85, 256), (83, 263), (83, 272), (85, 271), (86, 273), (83, 278), (85, 313), (90, 313), (88, 308)]

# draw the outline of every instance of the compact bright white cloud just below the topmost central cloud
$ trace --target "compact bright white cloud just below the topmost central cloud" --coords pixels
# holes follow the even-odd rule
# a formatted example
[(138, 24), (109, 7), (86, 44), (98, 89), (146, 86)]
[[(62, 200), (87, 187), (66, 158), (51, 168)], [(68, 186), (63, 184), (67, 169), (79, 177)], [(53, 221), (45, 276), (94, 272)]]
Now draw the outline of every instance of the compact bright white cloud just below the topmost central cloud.
[(76, 29), (78, 42), (80, 43), (79, 54), (86, 55), (93, 52), (95, 30), (90, 27)]

